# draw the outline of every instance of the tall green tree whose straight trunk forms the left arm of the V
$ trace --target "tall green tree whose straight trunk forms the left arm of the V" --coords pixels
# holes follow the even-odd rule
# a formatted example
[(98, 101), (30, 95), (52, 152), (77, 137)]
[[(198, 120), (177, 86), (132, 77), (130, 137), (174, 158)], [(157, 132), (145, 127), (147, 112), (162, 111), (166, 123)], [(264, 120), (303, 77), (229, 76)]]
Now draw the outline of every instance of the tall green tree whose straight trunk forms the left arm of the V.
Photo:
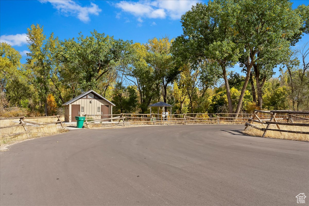
[[(193, 66), (211, 59), (221, 68), (224, 79), (229, 113), (232, 113), (230, 86), (227, 68), (238, 61), (239, 46), (233, 42), (233, 18), (223, 15), (220, 2), (198, 3), (181, 18), (184, 34), (176, 38), (173, 54), (181, 61), (189, 61)], [(229, 12), (228, 12), (229, 13)]]

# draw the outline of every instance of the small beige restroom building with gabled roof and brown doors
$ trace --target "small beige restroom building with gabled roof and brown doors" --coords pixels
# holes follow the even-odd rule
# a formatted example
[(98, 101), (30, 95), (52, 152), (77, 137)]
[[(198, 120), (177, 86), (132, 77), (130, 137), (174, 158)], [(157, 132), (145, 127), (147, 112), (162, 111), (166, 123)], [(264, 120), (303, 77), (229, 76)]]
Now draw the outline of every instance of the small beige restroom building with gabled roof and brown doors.
[[(64, 107), (64, 120), (76, 122), (75, 116), (98, 115), (100, 119), (109, 118), (112, 115), (113, 104), (93, 90), (89, 90), (70, 101), (62, 104)], [(100, 116), (105, 115), (105, 116)]]

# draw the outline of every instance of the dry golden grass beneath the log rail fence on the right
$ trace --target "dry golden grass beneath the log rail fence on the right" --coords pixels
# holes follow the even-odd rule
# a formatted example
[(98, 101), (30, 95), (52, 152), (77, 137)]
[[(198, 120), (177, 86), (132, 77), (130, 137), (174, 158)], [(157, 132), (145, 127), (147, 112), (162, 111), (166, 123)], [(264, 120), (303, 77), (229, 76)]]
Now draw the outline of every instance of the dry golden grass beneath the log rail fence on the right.
[[(259, 128), (266, 128), (266, 124), (254, 124), (254, 126)], [(280, 129), (282, 130), (290, 130), (290, 131), (300, 131), (300, 132), (309, 132), (308, 127), (300, 127), (300, 126), (287, 126), (287, 125), (279, 125)], [(270, 125), (269, 129), (278, 129), (275, 124)], [(243, 131), (251, 136), (258, 136), (262, 137), (264, 131), (248, 127), (247, 130)], [(265, 137), (268, 138), (275, 138), (275, 139), (285, 139), (285, 140), (297, 140), (297, 141), (309, 141), (308, 134), (296, 134), (296, 133), (289, 133), (289, 132), (277, 132), (277, 131), (267, 131)]]

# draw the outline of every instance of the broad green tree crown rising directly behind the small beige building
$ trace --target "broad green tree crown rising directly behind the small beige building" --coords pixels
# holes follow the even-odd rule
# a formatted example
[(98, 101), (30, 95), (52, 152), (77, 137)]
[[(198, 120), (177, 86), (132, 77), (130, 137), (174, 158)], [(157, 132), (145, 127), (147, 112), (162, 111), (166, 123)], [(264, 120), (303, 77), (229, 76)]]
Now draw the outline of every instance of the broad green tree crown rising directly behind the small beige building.
[(66, 68), (62, 76), (64, 82), (70, 82), (67, 87), (72, 89), (73, 96), (90, 89), (105, 95), (116, 78), (117, 63), (124, 58), (130, 42), (94, 30), (91, 36), (79, 33), (76, 40), (65, 40), (62, 45), (62, 62)]

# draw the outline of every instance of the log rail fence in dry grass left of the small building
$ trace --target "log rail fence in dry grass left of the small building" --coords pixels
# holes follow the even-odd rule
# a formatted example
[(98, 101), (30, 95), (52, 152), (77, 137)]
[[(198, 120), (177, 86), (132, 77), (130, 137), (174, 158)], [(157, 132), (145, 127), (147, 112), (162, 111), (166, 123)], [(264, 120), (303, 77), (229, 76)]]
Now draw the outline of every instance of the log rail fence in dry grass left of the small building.
[[(37, 122), (28, 121), (28, 119), (41, 119), (41, 118), (57, 118), (57, 121), (56, 122), (48, 122), (48, 123), (37, 123)], [(4, 118), (2, 117), (2, 118), (0, 118), (0, 120), (13, 120), (13, 119), (19, 119), (19, 124), (14, 124), (14, 125), (0, 127), (0, 129), (22, 126), (24, 131), (23, 132), (13, 133), (13, 134), (8, 134), (7, 136), (9, 136), (9, 137), (17, 136), (17, 135), (21, 135), (21, 134), (28, 134), (30, 132), (26, 128), (28, 126), (38, 126), (38, 125), (46, 125), (46, 124), (56, 124), (56, 125), (57, 124), (61, 124), (61, 127), (64, 128), (64, 126), (62, 124), (62, 121), (60, 120), (60, 115), (44, 116), (44, 117), (24, 117), (24, 116), (21, 116), (21, 117), (4, 117)]]

